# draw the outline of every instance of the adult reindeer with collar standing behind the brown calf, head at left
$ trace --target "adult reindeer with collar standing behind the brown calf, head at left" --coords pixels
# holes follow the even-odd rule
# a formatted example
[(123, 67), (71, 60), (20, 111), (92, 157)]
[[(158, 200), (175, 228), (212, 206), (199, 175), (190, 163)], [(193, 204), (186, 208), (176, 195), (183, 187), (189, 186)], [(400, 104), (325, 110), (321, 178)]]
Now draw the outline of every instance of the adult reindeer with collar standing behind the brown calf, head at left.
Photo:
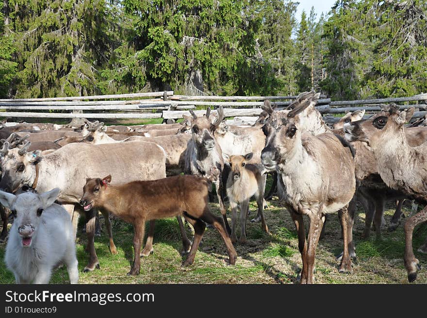
[[(112, 173), (118, 182), (131, 180), (155, 180), (166, 176), (164, 149), (151, 142), (139, 144), (120, 143), (105, 145), (87, 145), (71, 143), (48, 155), (41, 151), (27, 151), (30, 145), (9, 150), (8, 142), (0, 151), (2, 178), (0, 189), (15, 192), (28, 185), (37, 192), (59, 187), (61, 189), (58, 201), (66, 208), (73, 220), (74, 230), (77, 228), (79, 214), (74, 212), (75, 204), (80, 207), (83, 185), (86, 178), (98, 174)], [(110, 250), (116, 253), (113, 242), (111, 224), (108, 213), (104, 213)], [(88, 235), (89, 264), (85, 271), (99, 267), (95, 251), (95, 212), (90, 211), (86, 216), (86, 233)], [(147, 239), (143, 252), (149, 254), (152, 250), (152, 236)]]

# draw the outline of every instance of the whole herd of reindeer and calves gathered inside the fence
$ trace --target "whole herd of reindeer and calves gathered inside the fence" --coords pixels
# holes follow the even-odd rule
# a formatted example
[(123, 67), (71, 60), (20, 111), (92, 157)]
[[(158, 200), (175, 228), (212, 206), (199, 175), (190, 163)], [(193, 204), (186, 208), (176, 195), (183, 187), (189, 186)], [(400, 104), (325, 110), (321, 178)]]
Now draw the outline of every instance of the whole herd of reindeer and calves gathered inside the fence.
[[(328, 215), (335, 212), (344, 244), (339, 271), (352, 272), (357, 202), (366, 211), (365, 237), (372, 222), (377, 236), (381, 235), (386, 201), (399, 200), (390, 225), (394, 228), (403, 200), (426, 206), (427, 128), (424, 120), (405, 125), (414, 108), (400, 110), (394, 104), (368, 119), (362, 119), (364, 111), (348, 113), (329, 127), (314, 108), (319, 95), (302, 93), (283, 110), (265, 100), (252, 126), (233, 125), (222, 107), (215, 112), (208, 108), (201, 117), (190, 111), (191, 117), (183, 116), (182, 123), (171, 125), (107, 127), (88, 121), (81, 127), (0, 126), (0, 239), (8, 235), (10, 212), (14, 221), (5, 263), (16, 283), (49, 283), (52, 270), (60, 264), (66, 265), (70, 282), (78, 282), (75, 238), (80, 215), (86, 220), (89, 252), (84, 271), (99, 268), (94, 245), (99, 212), (112, 254), (117, 251), (110, 215), (133, 226), (134, 260), (129, 275), (139, 274), (140, 257), (153, 252), (155, 220), (170, 217), (178, 219), (182, 253), (188, 254), (183, 266), (193, 263), (207, 225), (221, 235), (229, 263), (234, 265), (237, 211), (239, 243), (244, 244), (253, 196), (258, 215), (252, 221), (260, 221), (262, 230), (269, 233), (268, 218), (264, 218), (268, 173), (276, 179), (272, 190), (277, 190), (296, 226), (301, 283), (314, 282), (316, 247)], [(213, 185), (222, 218), (210, 210)], [(412, 233), (427, 220), (426, 209), (404, 225), (404, 264), (410, 282), (420, 268)], [(303, 216), (310, 220), (308, 235)], [(192, 241), (182, 217), (194, 228)], [(419, 251), (427, 252), (427, 242)]]

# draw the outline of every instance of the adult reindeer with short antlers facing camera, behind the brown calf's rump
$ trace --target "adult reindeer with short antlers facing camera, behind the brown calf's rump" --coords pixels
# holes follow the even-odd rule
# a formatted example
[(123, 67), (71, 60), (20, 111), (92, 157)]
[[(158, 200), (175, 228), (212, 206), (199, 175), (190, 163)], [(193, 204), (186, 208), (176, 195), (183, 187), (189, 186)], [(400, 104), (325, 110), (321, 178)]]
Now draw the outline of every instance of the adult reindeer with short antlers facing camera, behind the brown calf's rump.
[(213, 132), (224, 118), (224, 113), (222, 107), (219, 107), (213, 123), (209, 118), (211, 114), (210, 108), (206, 110), (206, 115), (202, 117), (197, 117), (191, 110), (190, 113), (193, 116), (191, 123), (192, 138), (187, 144), (184, 173), (204, 177), (215, 184), (219, 210), (221, 211), (227, 231), (230, 233), (231, 229), (226, 216), (227, 211), (221, 197), (224, 159), (222, 158), (221, 147), (215, 142), (213, 136)]

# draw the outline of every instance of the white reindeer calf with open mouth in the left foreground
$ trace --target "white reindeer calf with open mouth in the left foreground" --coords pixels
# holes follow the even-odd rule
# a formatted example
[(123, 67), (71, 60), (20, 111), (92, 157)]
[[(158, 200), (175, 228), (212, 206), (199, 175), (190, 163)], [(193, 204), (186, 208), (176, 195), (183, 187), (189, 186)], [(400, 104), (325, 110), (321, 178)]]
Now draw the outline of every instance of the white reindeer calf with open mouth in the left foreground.
[(6, 245), (5, 263), (16, 284), (48, 284), (52, 269), (66, 265), (71, 284), (77, 284), (74, 231), (70, 215), (54, 201), (59, 188), (42, 194), (0, 191), (0, 203), (14, 215)]

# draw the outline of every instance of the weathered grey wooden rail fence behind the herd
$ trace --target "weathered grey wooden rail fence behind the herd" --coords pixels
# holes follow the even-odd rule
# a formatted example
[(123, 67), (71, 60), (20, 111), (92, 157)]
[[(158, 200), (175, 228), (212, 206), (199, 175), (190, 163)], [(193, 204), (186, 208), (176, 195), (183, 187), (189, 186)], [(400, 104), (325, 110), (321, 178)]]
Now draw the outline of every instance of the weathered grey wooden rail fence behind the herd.
[[(174, 121), (182, 115), (190, 115), (190, 109), (219, 106), (224, 107), (226, 117), (250, 118), (261, 113), (264, 100), (271, 100), (279, 109), (289, 105), (296, 96), (184, 96), (173, 91), (135, 93), (120, 95), (98, 95), (56, 97), (41, 99), (0, 99), (0, 117), (19, 118), (163, 118)], [(379, 104), (394, 102), (401, 108), (413, 105), (418, 108), (414, 118), (424, 117), (427, 94), (403, 98), (373, 100), (331, 101), (321, 96), (316, 105), (327, 122), (338, 118), (334, 114), (358, 109), (366, 110), (366, 117), (381, 110)], [(195, 110), (203, 114), (203, 110)], [(254, 119), (254, 118), (252, 118)], [(247, 119), (249, 120), (249, 119)], [(249, 120), (250, 121), (250, 120)]]

